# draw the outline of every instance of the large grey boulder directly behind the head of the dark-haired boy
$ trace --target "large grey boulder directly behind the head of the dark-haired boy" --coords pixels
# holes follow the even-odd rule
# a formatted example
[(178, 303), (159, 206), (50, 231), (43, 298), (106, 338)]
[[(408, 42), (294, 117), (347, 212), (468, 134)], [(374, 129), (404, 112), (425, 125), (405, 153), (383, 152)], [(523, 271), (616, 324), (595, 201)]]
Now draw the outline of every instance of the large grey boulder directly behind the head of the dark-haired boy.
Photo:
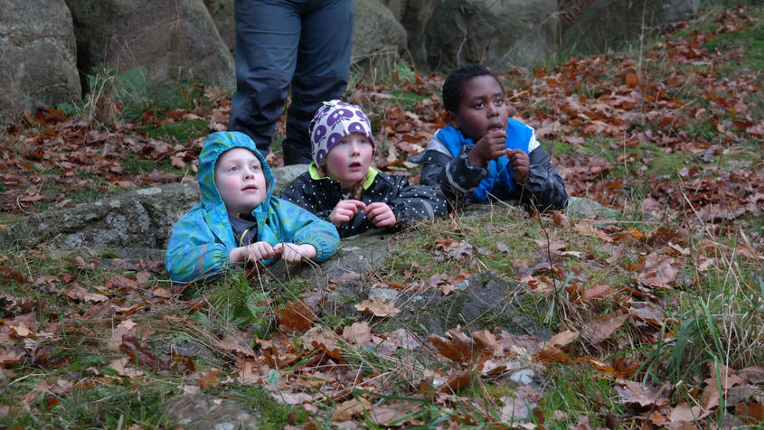
[(429, 19), (420, 56), (433, 70), (481, 62), (528, 67), (556, 50), (556, 0), (445, 0)]

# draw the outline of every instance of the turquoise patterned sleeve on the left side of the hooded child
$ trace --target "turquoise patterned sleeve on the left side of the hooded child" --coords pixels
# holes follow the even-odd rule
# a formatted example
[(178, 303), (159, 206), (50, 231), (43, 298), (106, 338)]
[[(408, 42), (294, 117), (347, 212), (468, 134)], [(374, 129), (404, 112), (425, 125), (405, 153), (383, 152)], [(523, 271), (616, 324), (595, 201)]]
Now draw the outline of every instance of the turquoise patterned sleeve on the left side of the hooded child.
[(203, 212), (191, 210), (173, 228), (165, 267), (174, 281), (191, 282), (217, 275), (223, 268), (231, 266), (230, 252), (231, 248), (212, 234)]

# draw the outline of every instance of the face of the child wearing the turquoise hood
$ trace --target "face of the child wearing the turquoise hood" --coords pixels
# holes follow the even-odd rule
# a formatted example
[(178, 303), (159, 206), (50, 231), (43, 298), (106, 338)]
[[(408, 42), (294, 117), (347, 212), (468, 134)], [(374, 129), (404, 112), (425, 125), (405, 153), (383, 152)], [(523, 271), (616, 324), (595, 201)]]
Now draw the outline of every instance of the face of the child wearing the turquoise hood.
[(268, 197), (260, 161), (247, 148), (230, 149), (218, 158), (215, 186), (232, 214), (250, 213)]

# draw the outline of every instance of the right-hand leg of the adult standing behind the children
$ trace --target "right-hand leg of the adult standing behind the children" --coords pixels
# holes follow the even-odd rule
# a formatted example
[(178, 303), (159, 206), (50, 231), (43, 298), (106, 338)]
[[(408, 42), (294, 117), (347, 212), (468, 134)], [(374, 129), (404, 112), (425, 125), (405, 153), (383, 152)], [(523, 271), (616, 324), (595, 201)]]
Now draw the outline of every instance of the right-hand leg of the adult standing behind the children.
[(292, 78), (287, 137), (282, 145), (284, 164), (311, 161), (307, 127), (321, 102), (340, 98), (347, 87), (353, 24), (353, 0), (308, 2)]

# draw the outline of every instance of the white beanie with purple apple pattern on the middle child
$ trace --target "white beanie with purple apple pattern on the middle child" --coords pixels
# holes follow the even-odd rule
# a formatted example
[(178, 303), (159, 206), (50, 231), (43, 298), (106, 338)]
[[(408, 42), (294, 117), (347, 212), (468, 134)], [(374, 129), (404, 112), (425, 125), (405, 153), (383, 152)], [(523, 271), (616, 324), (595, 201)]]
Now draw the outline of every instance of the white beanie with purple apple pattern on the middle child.
[(359, 133), (374, 145), (372, 125), (361, 108), (340, 100), (325, 101), (310, 121), (310, 150), (313, 161), (321, 165), (324, 157), (344, 136)]

